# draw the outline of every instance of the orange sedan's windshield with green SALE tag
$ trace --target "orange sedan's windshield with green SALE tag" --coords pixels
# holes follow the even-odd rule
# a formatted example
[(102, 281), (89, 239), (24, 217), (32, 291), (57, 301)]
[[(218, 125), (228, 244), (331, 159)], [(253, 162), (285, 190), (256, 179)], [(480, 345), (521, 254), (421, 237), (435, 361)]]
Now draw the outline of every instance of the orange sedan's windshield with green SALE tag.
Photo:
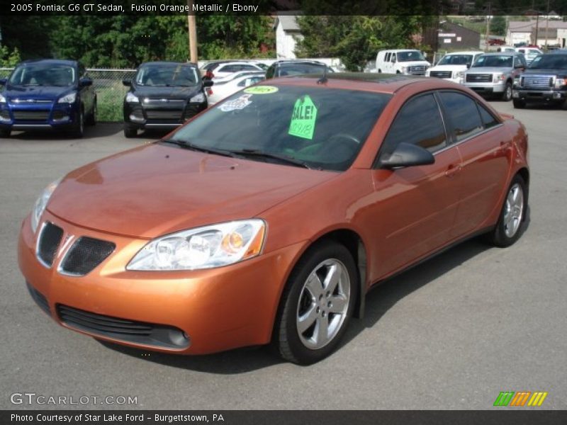
[(343, 171), (390, 98), (325, 87), (252, 86), (181, 127), (172, 140), (257, 161), (280, 157)]

